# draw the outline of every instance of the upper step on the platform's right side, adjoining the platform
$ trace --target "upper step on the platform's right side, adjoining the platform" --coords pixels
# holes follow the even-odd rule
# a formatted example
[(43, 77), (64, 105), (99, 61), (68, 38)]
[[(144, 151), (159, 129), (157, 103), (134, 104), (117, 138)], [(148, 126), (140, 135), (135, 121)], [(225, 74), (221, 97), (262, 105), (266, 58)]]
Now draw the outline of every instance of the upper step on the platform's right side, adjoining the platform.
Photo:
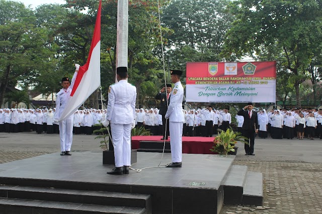
[(223, 181), (224, 204), (242, 204), (247, 166), (232, 165)]

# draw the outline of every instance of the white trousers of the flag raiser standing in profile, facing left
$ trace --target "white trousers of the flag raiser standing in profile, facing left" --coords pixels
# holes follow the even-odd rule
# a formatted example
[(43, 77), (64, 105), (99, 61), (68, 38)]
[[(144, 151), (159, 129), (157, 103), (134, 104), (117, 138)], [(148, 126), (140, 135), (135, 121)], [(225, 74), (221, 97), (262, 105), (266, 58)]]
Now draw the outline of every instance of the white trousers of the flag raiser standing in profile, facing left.
[(173, 163), (182, 162), (182, 122), (169, 122), (171, 157)]

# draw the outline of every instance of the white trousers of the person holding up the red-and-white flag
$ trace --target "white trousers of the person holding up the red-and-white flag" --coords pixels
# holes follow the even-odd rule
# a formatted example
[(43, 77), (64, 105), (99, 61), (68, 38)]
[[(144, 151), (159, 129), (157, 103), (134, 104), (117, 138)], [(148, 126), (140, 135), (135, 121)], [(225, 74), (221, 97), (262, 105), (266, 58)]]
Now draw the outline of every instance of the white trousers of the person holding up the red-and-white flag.
[(74, 115), (71, 115), (65, 120), (59, 122), (60, 150), (62, 152), (70, 151), (72, 143), (73, 122)]

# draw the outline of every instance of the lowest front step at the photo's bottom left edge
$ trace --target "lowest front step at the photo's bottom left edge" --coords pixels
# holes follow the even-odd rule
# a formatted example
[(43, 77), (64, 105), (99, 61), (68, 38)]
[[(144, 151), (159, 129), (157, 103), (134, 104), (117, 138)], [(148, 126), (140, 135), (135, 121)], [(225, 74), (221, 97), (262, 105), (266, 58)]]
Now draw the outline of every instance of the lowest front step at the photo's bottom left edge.
[(0, 197), (0, 213), (124, 213), (146, 214), (145, 208)]

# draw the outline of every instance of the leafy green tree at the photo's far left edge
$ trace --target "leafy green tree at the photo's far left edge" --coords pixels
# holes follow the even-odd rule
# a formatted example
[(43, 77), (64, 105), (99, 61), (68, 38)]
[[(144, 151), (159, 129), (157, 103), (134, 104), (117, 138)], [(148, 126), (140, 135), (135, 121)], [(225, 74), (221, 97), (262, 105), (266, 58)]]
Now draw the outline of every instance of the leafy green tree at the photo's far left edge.
[[(46, 31), (37, 28), (31, 9), (22, 3), (0, 0), (0, 103), (9, 83), (28, 81), (49, 61), (44, 48)], [(7, 15), (7, 17), (5, 17)]]

